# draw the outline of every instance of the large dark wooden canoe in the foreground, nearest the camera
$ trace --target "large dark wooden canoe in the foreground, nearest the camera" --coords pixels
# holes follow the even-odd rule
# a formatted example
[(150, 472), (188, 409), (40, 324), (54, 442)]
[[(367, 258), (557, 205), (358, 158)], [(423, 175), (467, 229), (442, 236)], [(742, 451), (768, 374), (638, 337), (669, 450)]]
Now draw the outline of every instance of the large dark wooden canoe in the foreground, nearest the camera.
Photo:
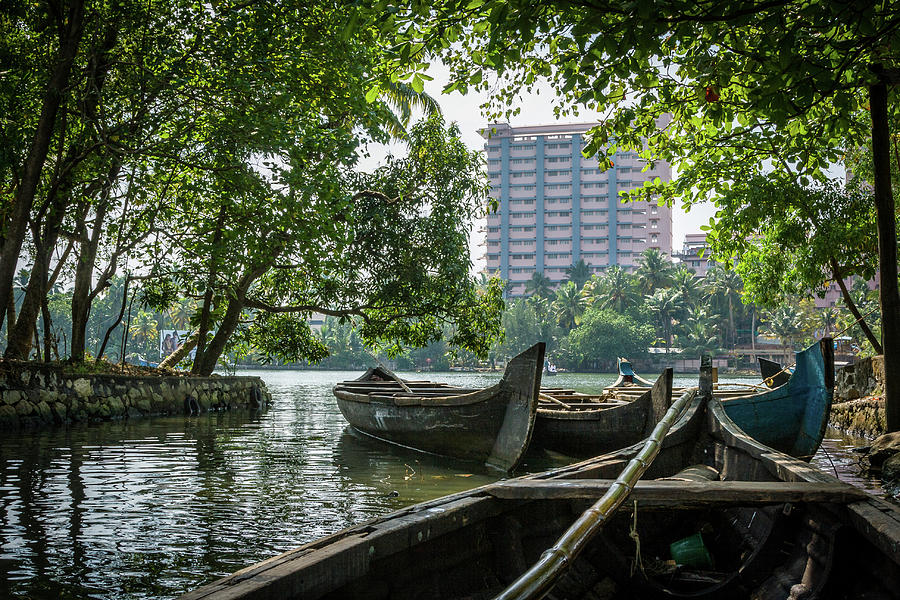
[[(640, 449), (411, 506), (184, 600), (494, 598)], [(690, 401), (630, 493), (547, 598), (900, 598), (900, 510), (760, 444), (710, 396)]]

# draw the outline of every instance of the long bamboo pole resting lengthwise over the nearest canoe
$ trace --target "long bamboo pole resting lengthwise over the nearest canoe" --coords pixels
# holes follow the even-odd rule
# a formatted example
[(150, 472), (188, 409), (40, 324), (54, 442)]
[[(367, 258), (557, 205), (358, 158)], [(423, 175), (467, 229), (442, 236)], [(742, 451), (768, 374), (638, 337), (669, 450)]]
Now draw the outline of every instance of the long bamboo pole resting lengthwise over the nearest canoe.
[[(666, 369), (668, 389), (672, 386), (672, 369)], [(663, 438), (684, 408), (694, 399), (697, 388), (691, 388), (666, 411), (657, 423), (653, 433), (647, 438), (641, 451), (632, 458), (609, 490), (592, 507), (587, 509), (575, 523), (546, 550), (540, 560), (528, 571), (503, 590), (494, 600), (536, 600), (543, 598), (553, 584), (565, 572), (572, 561), (597, 534), (616, 509), (628, 498), (634, 485), (641, 478), (653, 459), (659, 454)]]

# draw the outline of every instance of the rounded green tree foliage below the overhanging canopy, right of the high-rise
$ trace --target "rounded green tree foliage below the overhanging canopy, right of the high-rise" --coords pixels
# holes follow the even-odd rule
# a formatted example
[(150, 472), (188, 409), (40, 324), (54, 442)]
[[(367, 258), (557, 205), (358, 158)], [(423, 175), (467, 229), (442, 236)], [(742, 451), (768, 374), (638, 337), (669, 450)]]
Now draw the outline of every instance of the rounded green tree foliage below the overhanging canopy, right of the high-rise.
[(709, 228), (714, 256), (735, 270), (753, 303), (774, 307), (822, 294), (841, 277), (871, 279), (877, 265), (875, 207), (864, 189), (803, 186), (774, 175), (737, 183)]

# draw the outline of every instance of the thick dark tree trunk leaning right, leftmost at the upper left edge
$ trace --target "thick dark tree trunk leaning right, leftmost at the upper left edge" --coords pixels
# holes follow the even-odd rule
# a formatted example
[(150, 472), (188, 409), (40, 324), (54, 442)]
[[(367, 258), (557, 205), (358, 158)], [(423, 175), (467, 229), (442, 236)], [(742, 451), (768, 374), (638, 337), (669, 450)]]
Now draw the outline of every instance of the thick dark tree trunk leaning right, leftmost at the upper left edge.
[[(25, 169), (22, 179), (16, 188), (13, 198), (10, 219), (6, 223), (6, 236), (3, 248), (0, 251), (0, 306), (9, 306), (9, 297), (12, 295), (13, 278), (16, 275), (16, 265), (19, 262), (19, 253), (25, 241), (25, 231), (28, 227), (28, 219), (31, 215), (31, 207), (34, 204), (34, 196), (37, 192), (41, 171), (47, 159), (50, 148), (50, 140), (56, 125), (56, 118), (66, 88), (69, 85), (69, 76), (72, 72), (72, 64), (78, 54), (78, 45), (81, 42), (84, 21), (84, 0), (71, 0), (66, 23), (65, 34), (60, 39), (59, 52), (56, 65), (50, 80), (47, 82), (47, 91), (41, 106), (41, 115), (38, 118), (37, 128), (25, 161)], [(11, 333), (11, 332), (8, 332)]]

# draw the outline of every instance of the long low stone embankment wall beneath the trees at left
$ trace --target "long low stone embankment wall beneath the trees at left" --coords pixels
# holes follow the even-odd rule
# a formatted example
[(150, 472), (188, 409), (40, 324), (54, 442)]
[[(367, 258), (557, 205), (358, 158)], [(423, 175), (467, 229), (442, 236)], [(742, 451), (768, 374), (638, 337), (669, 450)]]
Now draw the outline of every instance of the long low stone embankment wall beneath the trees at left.
[(264, 408), (258, 377), (78, 375), (44, 365), (0, 366), (0, 428)]

